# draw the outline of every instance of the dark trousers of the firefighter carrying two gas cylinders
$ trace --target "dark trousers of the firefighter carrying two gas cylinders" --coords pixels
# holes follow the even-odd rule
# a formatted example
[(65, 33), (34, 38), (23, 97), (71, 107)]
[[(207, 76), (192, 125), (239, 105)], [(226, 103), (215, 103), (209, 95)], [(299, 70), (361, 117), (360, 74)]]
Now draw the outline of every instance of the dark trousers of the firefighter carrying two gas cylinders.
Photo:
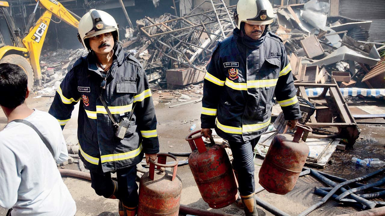
[(233, 152), (233, 169), (238, 173), (238, 190), (242, 196), (248, 196), (255, 191), (254, 180), (254, 148), (260, 136), (246, 142), (229, 141)]

